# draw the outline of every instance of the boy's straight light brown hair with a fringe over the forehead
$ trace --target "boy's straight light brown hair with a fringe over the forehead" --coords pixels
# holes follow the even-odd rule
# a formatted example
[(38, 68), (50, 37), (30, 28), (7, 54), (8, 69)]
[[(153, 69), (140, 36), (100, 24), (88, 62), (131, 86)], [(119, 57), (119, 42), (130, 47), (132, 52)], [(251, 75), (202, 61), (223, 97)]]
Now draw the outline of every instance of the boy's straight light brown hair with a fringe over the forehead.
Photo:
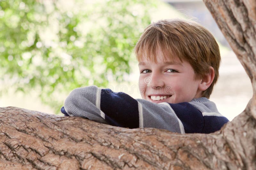
[(172, 60), (173, 56), (187, 60), (194, 69), (195, 80), (209, 74), (212, 66), (215, 77), (202, 92), (202, 97), (210, 97), (219, 77), (220, 50), (213, 35), (202, 25), (180, 19), (154, 22), (144, 30), (134, 50), (138, 61), (146, 57), (156, 62), (158, 50), (164, 61)]

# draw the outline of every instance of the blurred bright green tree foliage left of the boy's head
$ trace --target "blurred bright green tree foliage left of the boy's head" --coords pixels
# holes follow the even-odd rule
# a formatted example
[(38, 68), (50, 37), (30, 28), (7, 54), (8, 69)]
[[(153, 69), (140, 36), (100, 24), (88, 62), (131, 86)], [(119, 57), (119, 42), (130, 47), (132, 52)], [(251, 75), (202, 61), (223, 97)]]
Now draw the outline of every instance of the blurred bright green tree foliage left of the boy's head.
[(123, 81), (155, 2), (0, 0), (0, 77), (57, 110), (61, 93)]

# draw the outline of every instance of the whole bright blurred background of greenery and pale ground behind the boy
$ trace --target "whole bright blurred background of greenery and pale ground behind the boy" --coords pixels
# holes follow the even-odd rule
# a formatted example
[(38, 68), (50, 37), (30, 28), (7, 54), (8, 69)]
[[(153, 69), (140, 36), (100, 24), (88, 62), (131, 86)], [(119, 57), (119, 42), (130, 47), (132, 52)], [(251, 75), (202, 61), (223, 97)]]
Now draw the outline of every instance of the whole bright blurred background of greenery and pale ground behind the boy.
[(202, 0), (0, 0), (0, 107), (60, 114), (68, 93), (88, 85), (140, 98), (133, 47), (169, 18), (192, 18), (221, 42), (210, 99), (232, 120), (252, 87)]

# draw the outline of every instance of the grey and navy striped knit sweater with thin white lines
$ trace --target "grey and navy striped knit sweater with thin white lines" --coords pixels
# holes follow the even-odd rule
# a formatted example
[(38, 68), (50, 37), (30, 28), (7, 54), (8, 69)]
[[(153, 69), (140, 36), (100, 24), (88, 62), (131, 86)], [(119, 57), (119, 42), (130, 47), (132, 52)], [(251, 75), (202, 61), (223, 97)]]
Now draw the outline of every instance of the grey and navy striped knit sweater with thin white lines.
[(74, 89), (61, 112), (114, 126), (151, 127), (178, 133), (212, 133), (228, 122), (205, 97), (191, 102), (157, 104), (96, 86)]

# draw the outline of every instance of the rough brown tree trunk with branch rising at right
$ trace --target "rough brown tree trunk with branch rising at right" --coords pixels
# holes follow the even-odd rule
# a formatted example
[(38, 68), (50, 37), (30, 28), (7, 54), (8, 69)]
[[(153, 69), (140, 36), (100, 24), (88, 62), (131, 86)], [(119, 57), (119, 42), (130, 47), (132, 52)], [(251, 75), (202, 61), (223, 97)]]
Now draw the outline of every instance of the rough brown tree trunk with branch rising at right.
[(256, 169), (256, 1), (204, 3), (252, 81), (253, 97), (233, 121), (181, 135), (0, 108), (1, 169)]

